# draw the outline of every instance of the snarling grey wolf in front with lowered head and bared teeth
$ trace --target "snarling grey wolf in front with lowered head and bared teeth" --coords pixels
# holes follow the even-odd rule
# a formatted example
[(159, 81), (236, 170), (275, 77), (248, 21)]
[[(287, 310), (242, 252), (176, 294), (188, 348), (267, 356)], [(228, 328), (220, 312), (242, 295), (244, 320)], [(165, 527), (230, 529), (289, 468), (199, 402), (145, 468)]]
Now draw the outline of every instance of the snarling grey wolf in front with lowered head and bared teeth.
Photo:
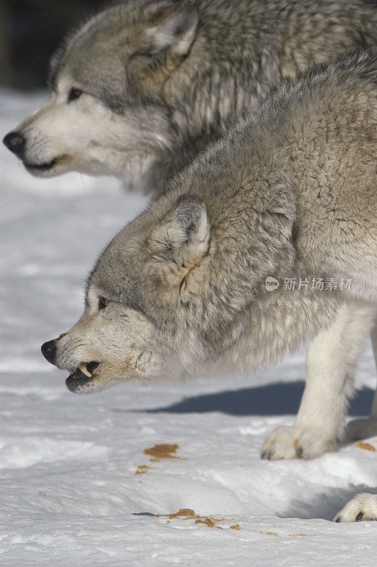
[[(345, 305), (376, 311), (376, 79), (368, 50), (319, 64), (167, 181), (103, 250), (79, 321), (42, 346), (70, 391), (255, 369)], [(317, 377), (262, 456), (334, 448), (351, 392), (349, 374)]]

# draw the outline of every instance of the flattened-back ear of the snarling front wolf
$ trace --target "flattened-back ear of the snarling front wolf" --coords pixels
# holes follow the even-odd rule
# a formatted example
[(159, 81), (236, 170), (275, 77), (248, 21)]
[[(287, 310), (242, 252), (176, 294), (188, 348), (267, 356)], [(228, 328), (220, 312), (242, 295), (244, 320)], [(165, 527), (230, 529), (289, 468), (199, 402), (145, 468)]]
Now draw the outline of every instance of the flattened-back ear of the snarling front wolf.
[(150, 235), (152, 264), (186, 275), (208, 252), (210, 223), (204, 203), (181, 196)]

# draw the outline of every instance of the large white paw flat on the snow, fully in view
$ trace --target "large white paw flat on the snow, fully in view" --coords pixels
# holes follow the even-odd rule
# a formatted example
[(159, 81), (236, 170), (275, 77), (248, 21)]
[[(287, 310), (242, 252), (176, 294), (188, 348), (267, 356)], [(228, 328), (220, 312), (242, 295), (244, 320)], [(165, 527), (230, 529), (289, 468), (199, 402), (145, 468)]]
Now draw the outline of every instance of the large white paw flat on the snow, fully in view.
[(261, 458), (271, 461), (314, 459), (336, 448), (335, 439), (324, 437), (315, 427), (282, 425), (276, 427), (276, 430), (267, 437), (261, 449)]

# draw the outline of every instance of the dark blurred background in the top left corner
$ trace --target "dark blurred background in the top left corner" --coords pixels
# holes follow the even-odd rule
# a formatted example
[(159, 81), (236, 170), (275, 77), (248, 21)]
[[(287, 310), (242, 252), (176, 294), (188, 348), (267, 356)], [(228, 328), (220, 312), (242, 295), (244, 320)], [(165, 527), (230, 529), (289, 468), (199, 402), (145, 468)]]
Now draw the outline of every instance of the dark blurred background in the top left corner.
[(106, 0), (0, 0), (0, 86), (45, 86), (50, 56), (64, 35)]

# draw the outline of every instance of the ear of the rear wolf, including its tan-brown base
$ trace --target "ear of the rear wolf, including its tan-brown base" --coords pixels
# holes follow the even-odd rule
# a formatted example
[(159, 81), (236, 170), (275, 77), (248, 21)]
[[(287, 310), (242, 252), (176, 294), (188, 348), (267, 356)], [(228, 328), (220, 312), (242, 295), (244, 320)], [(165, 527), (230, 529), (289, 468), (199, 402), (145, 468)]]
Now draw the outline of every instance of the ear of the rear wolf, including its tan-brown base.
[(190, 52), (197, 26), (198, 11), (188, 2), (152, 4), (138, 32), (137, 52), (128, 62), (131, 86), (152, 93), (162, 88)]

